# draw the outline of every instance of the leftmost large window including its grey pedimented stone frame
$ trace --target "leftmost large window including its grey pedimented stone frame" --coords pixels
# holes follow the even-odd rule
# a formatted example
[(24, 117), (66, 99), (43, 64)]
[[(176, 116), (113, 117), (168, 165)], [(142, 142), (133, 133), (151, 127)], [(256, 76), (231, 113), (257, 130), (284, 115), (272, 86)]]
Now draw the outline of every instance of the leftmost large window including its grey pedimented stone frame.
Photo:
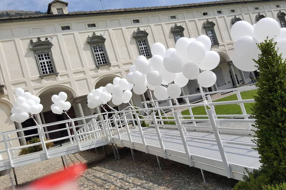
[(47, 37), (45, 39), (45, 41), (42, 41), (41, 38), (38, 37), (37, 42), (33, 42), (32, 39), (30, 40), (30, 49), (34, 51), (41, 78), (43, 78), (44, 75), (58, 75), (51, 50), (53, 44)]

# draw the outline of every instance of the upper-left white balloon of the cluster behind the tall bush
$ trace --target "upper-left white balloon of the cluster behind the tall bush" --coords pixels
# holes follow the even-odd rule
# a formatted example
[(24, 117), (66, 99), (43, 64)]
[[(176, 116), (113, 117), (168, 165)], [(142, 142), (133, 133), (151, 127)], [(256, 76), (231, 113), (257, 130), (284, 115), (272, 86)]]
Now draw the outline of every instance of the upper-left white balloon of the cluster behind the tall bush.
[(240, 37), (252, 36), (254, 27), (247, 21), (240, 20), (231, 27), (230, 35), (234, 42), (236, 42)]

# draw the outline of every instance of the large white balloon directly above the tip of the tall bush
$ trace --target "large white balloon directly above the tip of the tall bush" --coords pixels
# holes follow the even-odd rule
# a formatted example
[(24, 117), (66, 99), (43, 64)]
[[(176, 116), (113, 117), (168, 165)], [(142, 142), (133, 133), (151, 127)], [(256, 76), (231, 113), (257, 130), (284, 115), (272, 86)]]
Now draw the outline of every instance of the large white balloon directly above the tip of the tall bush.
[(253, 31), (253, 37), (255, 37), (258, 42), (264, 41), (267, 37), (268, 39), (279, 39), (279, 36), (280, 26), (278, 22), (275, 19), (269, 17), (262, 18), (261, 20), (259, 20), (256, 23)]

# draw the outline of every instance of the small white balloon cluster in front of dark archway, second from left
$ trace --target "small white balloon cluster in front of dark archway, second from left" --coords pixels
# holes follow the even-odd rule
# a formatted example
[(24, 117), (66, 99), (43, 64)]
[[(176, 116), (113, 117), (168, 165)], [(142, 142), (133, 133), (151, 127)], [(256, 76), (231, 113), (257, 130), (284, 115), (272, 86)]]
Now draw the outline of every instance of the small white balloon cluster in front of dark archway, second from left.
[(62, 114), (71, 108), (71, 103), (66, 101), (68, 95), (65, 92), (60, 92), (59, 95), (52, 95), (51, 105), (52, 112), (55, 114)]

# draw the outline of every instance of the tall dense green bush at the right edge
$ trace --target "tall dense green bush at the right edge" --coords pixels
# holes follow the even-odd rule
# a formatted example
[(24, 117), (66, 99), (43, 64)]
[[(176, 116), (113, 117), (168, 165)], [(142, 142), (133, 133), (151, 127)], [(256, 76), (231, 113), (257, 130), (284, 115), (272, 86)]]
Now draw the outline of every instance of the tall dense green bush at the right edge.
[[(259, 43), (261, 54), (255, 61), (259, 66), (259, 87), (254, 97), (254, 127), (262, 166), (240, 181), (235, 190), (280, 190), (286, 181), (286, 65), (275, 47), (277, 42), (266, 39)], [(284, 183), (281, 185), (280, 184)], [(273, 185), (273, 186), (271, 186)]]

